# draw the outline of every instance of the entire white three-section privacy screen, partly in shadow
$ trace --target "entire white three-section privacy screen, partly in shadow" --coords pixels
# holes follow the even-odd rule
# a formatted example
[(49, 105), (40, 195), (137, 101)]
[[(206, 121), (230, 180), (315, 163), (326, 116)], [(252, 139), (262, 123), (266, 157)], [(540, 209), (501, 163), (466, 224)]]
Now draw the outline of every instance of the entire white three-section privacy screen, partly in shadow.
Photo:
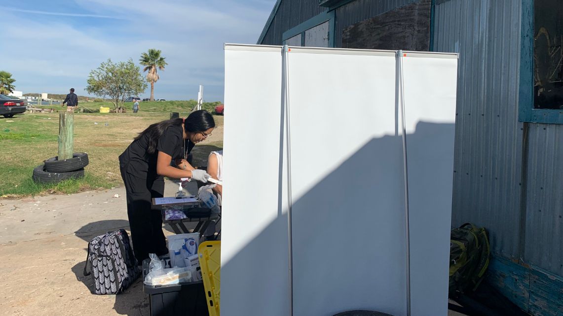
[[(222, 313), (287, 315), (293, 302), (294, 315), (405, 315), (396, 52), (291, 48), (287, 86), (282, 57), (282, 47), (225, 46), (225, 103), (232, 111), (224, 130)], [(412, 315), (447, 313), (455, 58), (403, 58)]]

